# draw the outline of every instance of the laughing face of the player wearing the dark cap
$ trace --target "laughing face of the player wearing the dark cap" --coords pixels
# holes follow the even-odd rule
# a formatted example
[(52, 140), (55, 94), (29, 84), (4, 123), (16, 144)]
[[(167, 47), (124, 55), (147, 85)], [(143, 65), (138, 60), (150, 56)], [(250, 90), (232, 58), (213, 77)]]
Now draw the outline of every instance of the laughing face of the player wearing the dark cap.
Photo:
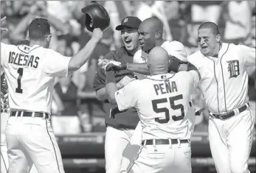
[(139, 34), (137, 29), (124, 28), (121, 31), (122, 43), (128, 52), (136, 51), (139, 47)]

